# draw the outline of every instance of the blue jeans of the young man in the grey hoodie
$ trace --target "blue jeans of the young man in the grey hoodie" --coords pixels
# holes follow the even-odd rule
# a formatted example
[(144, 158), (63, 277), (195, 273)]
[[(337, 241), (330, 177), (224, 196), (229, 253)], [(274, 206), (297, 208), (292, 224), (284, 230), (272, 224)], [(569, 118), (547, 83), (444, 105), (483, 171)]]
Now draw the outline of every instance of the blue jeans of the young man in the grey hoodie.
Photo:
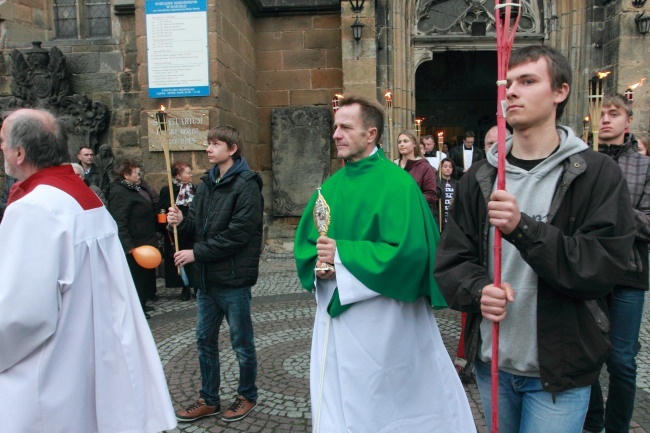
[[(476, 384), (492, 430), (490, 365), (476, 360)], [(499, 433), (581, 433), (589, 386), (550, 393), (537, 377), (499, 371)]]

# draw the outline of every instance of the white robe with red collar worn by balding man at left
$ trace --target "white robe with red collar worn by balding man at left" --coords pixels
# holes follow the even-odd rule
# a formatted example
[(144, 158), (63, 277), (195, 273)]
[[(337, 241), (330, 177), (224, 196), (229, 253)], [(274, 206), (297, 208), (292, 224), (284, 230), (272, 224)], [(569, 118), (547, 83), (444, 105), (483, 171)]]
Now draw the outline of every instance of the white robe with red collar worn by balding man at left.
[(7, 207), (0, 250), (0, 432), (173, 428), (160, 358), (106, 208), (84, 210), (39, 185)]

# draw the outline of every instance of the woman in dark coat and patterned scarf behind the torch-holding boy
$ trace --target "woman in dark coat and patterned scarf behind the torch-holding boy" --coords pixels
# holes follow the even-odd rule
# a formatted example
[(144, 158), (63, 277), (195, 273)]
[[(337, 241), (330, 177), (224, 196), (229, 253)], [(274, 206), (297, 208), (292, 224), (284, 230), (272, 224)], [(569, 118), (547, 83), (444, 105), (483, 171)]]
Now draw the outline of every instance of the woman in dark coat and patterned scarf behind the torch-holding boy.
[[(172, 186), (174, 201), (178, 209), (187, 216), (190, 209), (190, 203), (194, 199), (196, 186), (192, 184), (192, 168), (184, 161), (176, 161), (172, 164)], [(158, 212), (167, 212), (170, 206), (169, 199), (169, 186), (165, 185), (160, 189), (160, 200), (158, 201)], [(172, 232), (167, 230), (167, 225), (162, 227), (164, 239), (164, 259), (165, 259), (165, 286), (167, 287), (183, 287), (180, 299), (187, 301), (190, 299), (190, 287), (194, 287), (192, 280), (194, 277), (194, 264), (189, 263), (184, 266), (185, 274), (189, 278), (190, 284), (184, 284), (182, 278), (178, 274), (178, 268), (174, 265), (174, 236)], [(178, 237), (178, 246), (181, 250), (192, 249), (192, 241), (183, 236)]]

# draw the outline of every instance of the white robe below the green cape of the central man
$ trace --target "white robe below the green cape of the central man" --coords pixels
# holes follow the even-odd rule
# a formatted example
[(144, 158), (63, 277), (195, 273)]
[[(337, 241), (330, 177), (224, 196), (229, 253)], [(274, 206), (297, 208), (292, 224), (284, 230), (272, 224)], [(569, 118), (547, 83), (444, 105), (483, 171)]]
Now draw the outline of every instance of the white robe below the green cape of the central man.
[[(313, 431), (473, 433), (467, 396), (424, 298), (396, 301), (365, 287), (335, 260), (336, 280), (316, 282), (311, 348)], [(327, 305), (338, 287), (342, 305)]]

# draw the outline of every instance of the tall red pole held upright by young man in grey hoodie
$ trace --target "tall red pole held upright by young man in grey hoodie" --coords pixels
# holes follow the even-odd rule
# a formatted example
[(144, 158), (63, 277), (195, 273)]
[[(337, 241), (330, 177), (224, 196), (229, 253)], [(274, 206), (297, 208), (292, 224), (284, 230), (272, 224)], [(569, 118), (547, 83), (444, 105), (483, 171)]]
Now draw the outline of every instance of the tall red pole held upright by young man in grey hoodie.
[[(519, 24), (519, 0), (494, 0), (497, 34), (497, 189), (506, 189), (506, 74)], [(513, 10), (514, 8), (514, 10)], [(501, 287), (501, 231), (494, 231), (494, 286)], [(492, 429), (499, 432), (499, 323), (492, 323)]]

